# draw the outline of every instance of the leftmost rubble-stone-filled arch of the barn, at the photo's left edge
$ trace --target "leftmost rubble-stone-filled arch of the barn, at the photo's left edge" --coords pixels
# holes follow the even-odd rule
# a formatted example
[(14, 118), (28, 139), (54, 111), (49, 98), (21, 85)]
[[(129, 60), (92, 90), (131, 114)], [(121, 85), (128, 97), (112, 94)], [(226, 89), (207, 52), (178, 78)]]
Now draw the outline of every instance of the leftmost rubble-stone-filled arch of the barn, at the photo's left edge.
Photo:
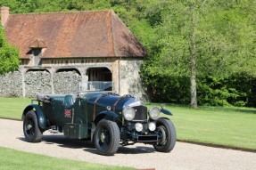
[(22, 79), (19, 71), (0, 75), (0, 96), (21, 97)]

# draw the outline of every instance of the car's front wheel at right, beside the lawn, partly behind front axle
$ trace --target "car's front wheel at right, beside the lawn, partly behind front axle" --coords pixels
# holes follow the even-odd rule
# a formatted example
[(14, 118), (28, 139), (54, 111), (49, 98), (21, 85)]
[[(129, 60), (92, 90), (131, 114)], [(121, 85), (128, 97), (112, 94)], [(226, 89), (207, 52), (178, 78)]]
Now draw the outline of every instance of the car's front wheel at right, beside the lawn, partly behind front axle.
[(158, 118), (156, 120), (156, 131), (160, 134), (160, 138), (153, 148), (160, 152), (169, 152), (173, 150), (176, 144), (176, 130), (173, 123), (169, 119)]

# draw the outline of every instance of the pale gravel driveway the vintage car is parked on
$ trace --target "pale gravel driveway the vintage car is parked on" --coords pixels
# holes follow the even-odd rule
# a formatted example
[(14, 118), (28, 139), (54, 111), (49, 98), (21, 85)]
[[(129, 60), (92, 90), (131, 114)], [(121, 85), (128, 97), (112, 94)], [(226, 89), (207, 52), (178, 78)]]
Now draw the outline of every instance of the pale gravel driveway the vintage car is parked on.
[(156, 152), (151, 145), (135, 144), (120, 147), (111, 157), (97, 155), (91, 142), (67, 139), (62, 134), (45, 132), (42, 142), (29, 143), (25, 142), (22, 122), (6, 119), (0, 119), (0, 146), (57, 158), (157, 170), (256, 169), (256, 153), (183, 142), (177, 142), (170, 153)]

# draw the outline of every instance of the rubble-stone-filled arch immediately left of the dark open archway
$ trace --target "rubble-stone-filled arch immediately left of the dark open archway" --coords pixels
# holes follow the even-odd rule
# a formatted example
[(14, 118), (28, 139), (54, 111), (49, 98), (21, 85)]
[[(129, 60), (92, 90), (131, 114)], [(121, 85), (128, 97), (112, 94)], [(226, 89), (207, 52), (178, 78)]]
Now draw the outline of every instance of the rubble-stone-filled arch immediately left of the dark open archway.
[(76, 71), (64, 71), (54, 74), (55, 93), (78, 93), (82, 77)]

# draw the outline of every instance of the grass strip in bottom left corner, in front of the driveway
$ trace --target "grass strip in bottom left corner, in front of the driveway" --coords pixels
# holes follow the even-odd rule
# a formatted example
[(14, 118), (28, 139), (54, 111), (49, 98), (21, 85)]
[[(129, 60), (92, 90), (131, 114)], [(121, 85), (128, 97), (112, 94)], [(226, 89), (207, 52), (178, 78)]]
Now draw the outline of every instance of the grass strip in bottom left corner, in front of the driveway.
[(101, 164), (87, 163), (83, 161), (69, 160), (63, 158), (53, 158), (24, 151), (6, 149), (0, 147), (0, 169), (9, 170), (128, 170), (134, 169), (123, 166), (105, 166)]

